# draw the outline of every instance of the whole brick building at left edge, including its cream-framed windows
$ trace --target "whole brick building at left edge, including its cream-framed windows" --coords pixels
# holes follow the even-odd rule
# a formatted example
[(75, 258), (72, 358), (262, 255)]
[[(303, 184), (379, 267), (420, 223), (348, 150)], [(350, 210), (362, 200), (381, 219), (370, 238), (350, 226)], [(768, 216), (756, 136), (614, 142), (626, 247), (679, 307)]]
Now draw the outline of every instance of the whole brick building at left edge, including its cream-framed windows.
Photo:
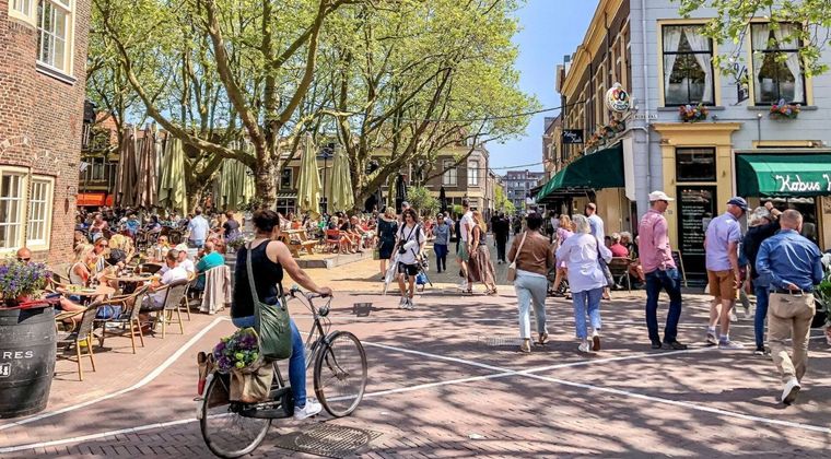
[(90, 0), (0, 0), (0, 257), (72, 256)]

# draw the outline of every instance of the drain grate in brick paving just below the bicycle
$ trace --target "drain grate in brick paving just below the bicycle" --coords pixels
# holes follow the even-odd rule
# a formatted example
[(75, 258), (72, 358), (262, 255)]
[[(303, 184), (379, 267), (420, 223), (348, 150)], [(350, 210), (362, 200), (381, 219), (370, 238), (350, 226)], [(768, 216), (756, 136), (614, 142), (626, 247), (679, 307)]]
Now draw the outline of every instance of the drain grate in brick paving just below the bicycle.
[(327, 458), (343, 458), (354, 455), (379, 436), (381, 432), (364, 428), (317, 424), (305, 432), (281, 435), (276, 446)]

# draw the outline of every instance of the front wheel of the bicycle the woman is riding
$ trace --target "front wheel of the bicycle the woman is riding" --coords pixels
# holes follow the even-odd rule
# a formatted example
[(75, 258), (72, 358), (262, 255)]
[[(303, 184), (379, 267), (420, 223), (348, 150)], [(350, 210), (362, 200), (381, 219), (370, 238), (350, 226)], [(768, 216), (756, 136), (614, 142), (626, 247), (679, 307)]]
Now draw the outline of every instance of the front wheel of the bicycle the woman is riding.
[(355, 411), (366, 389), (366, 353), (358, 338), (336, 331), (315, 361), (315, 396), (332, 416)]

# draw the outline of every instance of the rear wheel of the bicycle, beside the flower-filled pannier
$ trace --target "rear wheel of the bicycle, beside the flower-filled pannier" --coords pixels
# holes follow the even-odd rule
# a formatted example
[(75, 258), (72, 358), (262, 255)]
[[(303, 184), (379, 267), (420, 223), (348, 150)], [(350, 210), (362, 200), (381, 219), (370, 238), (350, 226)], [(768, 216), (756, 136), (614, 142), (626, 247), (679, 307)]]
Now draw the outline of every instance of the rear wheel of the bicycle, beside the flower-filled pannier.
[[(230, 389), (229, 378), (214, 374), (204, 390), (199, 420), (204, 444), (221, 458), (237, 458), (254, 451), (271, 426), (269, 419), (241, 416), (235, 403), (227, 401)], [(223, 401), (212, 402), (213, 399)]]

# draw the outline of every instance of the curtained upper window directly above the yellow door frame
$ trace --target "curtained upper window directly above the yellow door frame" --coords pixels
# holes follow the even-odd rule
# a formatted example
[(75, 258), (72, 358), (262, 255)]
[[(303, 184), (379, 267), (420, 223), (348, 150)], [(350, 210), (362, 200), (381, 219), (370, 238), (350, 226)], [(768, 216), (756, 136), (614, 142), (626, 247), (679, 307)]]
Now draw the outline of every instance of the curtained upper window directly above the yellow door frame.
[(664, 105), (712, 105), (713, 43), (695, 25), (665, 25)]

